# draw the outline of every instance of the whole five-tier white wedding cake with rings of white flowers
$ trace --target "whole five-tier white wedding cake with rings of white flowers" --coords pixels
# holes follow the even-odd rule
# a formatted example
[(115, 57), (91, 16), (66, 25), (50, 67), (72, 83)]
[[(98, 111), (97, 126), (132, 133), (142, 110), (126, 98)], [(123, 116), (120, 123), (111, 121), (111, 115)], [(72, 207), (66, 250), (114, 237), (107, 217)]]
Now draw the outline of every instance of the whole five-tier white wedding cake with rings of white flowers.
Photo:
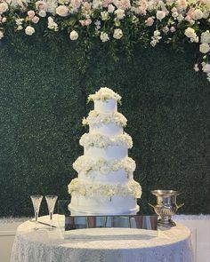
[(89, 125), (89, 132), (79, 141), (84, 155), (73, 163), (78, 178), (69, 184), (72, 215), (135, 214), (139, 210), (136, 199), (141, 197), (141, 186), (133, 180), (135, 162), (127, 154), (133, 141), (123, 131), (125, 116), (117, 112), (120, 99), (107, 87), (88, 98), (94, 110), (83, 120)]

